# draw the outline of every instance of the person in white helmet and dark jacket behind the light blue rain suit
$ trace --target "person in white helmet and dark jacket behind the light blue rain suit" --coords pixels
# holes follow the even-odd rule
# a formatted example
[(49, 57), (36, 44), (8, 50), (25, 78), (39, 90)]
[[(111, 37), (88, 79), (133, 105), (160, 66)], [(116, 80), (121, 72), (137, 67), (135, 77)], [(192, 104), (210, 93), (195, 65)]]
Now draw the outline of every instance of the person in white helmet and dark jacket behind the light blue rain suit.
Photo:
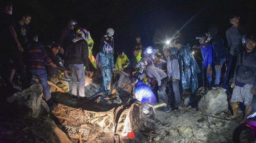
[[(114, 29), (113, 28), (108, 28), (107, 29), (107, 34), (102, 36), (101, 40), (100, 40), (100, 48), (103, 47), (105, 44), (110, 45), (113, 49), (113, 53), (114, 53)], [(112, 53), (112, 54), (113, 54)]]

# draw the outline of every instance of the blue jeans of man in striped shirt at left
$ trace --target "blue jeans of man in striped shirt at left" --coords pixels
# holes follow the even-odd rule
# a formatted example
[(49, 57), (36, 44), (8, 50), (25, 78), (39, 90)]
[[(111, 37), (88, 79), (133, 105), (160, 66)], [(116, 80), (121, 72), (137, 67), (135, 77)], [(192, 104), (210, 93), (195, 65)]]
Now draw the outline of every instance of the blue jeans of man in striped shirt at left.
[(49, 85), (47, 84), (47, 73), (45, 69), (31, 69), (29, 70), (33, 75), (36, 75), (40, 84), (43, 87), (44, 99), (48, 101), (51, 98)]

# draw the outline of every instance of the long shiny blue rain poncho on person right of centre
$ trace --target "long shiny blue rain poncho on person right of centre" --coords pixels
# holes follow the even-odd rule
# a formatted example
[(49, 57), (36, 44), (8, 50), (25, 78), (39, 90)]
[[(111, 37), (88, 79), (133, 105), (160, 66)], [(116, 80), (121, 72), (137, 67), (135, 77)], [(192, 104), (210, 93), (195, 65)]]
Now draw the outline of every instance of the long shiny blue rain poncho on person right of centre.
[[(201, 71), (190, 51), (189, 44), (182, 45), (180, 50), (172, 50), (172, 53), (177, 56), (179, 61), (182, 89), (186, 90), (191, 88), (192, 95), (195, 94), (198, 89), (197, 74)], [(186, 68), (188, 69), (187, 72), (184, 71)]]

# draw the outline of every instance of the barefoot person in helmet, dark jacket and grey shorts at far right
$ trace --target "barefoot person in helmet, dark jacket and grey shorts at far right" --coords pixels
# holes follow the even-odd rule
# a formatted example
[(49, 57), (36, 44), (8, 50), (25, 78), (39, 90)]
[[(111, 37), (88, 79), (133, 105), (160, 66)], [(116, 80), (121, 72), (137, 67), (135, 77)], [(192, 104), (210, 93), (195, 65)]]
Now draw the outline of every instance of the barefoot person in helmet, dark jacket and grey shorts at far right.
[(233, 89), (231, 102), (233, 115), (228, 117), (234, 119), (237, 117), (238, 104), (245, 104), (245, 117), (240, 123), (247, 120), (252, 111), (252, 97), (256, 94), (256, 34), (247, 33), (243, 36), (243, 45), (246, 50), (238, 55), (236, 70), (231, 84)]

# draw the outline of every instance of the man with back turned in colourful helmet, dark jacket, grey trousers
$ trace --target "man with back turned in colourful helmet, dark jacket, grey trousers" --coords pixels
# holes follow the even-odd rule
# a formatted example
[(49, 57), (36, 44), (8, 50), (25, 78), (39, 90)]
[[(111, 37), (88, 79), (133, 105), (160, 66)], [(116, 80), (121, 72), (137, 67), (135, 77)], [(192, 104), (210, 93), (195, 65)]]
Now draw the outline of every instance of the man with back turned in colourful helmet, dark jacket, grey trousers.
[(85, 84), (85, 70), (89, 71), (88, 66), (88, 43), (87, 30), (85, 28), (78, 28), (76, 30), (77, 37), (72, 40), (72, 44), (67, 50), (67, 64), (71, 71), (72, 76), (72, 100), (77, 99), (77, 82), (78, 82), (78, 94), (79, 100), (87, 100), (84, 92)]

